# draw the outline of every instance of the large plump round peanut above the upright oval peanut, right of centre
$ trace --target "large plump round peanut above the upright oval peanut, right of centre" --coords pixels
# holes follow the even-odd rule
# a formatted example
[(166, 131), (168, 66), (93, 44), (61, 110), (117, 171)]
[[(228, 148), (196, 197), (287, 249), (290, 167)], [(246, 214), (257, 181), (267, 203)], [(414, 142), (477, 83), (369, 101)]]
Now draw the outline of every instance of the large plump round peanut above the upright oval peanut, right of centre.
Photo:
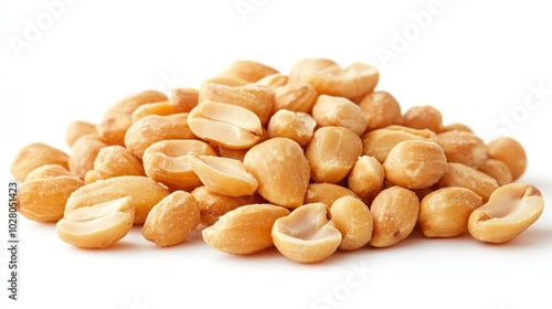
[(406, 189), (432, 187), (446, 173), (447, 158), (433, 141), (406, 140), (397, 143), (383, 162), (385, 178)]

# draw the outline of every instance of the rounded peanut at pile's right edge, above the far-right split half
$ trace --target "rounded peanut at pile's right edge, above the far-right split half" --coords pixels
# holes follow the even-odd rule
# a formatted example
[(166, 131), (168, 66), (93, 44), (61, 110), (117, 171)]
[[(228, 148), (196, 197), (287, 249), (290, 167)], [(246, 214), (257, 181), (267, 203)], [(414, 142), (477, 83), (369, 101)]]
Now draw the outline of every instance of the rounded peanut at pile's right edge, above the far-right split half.
[(511, 137), (500, 137), (487, 145), (489, 158), (505, 162), (517, 180), (527, 169), (527, 156), (523, 146)]

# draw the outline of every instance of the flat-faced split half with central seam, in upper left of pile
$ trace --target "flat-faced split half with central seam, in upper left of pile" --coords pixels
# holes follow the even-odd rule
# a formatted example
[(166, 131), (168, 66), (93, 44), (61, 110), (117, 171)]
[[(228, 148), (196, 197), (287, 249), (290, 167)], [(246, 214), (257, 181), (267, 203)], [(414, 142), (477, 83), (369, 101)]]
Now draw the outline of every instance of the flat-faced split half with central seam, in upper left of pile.
[(250, 148), (263, 136), (257, 115), (224, 103), (202, 102), (190, 111), (188, 124), (199, 138), (232, 149)]

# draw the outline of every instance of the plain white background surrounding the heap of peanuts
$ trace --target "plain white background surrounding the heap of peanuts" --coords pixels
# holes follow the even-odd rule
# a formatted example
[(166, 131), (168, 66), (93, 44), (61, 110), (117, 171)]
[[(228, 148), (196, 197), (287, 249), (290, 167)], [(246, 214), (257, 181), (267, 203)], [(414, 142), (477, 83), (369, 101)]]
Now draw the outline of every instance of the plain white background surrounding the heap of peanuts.
[[(343, 66), (380, 67), (378, 88), (392, 93), (403, 110), (431, 104), (446, 124), (465, 122), (486, 141), (513, 136), (529, 156), (520, 181), (552, 199), (546, 1), (81, 0), (57, 1), (62, 7), (52, 11), (53, 2), (0, 4), (4, 188), (19, 148), (43, 141), (68, 151), (70, 121), (97, 122), (127, 94), (197, 87), (235, 60), (287, 73), (299, 58), (329, 57)], [(253, 9), (241, 13), (236, 3)], [(392, 57), (382, 58), (383, 50)], [(544, 89), (541, 100), (531, 87)], [(1, 235), (7, 238), (7, 232)], [(8, 252), (0, 251), (4, 308), (552, 306), (549, 209), (500, 246), (469, 235), (427, 239), (416, 232), (395, 247), (337, 253), (317, 265), (295, 264), (275, 249), (226, 255), (208, 247), (199, 233), (158, 248), (136, 228), (112, 249), (83, 251), (61, 242), (54, 225), (21, 219), (19, 235), (19, 301), (7, 299)]]

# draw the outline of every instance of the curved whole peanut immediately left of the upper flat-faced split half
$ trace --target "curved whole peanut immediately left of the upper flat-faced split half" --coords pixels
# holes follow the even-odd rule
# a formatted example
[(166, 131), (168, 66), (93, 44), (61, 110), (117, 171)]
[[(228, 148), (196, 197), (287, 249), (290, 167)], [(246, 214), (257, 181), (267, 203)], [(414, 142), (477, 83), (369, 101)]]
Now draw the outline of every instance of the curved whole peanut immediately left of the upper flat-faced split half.
[(134, 122), (125, 135), (125, 147), (141, 159), (151, 145), (167, 139), (194, 139), (187, 113), (150, 115)]

